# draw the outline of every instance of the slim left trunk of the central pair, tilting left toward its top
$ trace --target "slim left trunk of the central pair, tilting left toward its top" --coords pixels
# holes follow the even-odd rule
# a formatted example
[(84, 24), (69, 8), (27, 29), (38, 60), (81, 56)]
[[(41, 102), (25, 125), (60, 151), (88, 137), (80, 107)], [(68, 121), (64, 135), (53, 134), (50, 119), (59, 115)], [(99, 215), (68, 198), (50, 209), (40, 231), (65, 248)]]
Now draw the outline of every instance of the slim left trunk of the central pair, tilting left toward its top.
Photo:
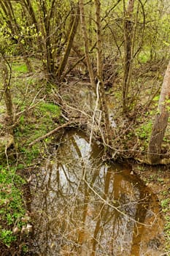
[(91, 83), (93, 90), (96, 91), (96, 83), (95, 83), (95, 78), (94, 78), (94, 73), (93, 73), (93, 67), (92, 67), (92, 63), (90, 61), (90, 56), (89, 56), (88, 34), (87, 34), (87, 29), (86, 29), (86, 24), (85, 24), (85, 10), (84, 10), (84, 1), (83, 0), (80, 0), (80, 21), (81, 21), (81, 26), (82, 26), (82, 37), (84, 39), (84, 45), (85, 45), (85, 59), (87, 61), (87, 65), (88, 65), (90, 83)]

